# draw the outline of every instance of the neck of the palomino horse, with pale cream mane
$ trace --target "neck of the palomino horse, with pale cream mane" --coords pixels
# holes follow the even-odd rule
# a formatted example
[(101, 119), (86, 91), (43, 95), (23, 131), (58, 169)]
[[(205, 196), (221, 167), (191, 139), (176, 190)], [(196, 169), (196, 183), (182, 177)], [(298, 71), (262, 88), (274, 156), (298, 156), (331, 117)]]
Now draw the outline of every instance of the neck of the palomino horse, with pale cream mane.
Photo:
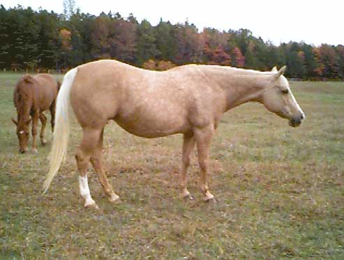
[(226, 95), (226, 111), (245, 102), (259, 101), (269, 82), (267, 72), (209, 66), (207, 77), (216, 82)]

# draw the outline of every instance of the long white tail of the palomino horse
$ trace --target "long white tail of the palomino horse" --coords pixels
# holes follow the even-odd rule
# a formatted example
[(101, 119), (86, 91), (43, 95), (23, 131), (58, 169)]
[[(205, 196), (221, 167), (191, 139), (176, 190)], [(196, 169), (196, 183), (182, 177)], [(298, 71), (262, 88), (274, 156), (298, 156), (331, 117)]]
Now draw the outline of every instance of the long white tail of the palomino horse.
[(55, 128), (50, 153), (50, 169), (43, 183), (44, 192), (47, 192), (52, 179), (59, 171), (61, 162), (66, 159), (70, 124), (70, 89), (73, 86), (77, 68), (69, 70), (63, 77), (62, 86), (57, 95)]

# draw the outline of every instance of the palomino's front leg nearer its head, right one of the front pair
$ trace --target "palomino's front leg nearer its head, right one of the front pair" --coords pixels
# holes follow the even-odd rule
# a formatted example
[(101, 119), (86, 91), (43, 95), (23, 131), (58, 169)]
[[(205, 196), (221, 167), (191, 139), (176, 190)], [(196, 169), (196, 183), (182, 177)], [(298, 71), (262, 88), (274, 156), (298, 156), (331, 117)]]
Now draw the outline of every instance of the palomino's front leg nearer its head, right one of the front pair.
[(201, 183), (200, 188), (204, 194), (204, 201), (214, 199), (214, 195), (208, 190), (207, 174), (209, 170), (209, 148), (214, 133), (214, 127), (209, 125), (207, 128), (197, 128), (195, 139), (197, 144), (198, 162), (200, 164)]

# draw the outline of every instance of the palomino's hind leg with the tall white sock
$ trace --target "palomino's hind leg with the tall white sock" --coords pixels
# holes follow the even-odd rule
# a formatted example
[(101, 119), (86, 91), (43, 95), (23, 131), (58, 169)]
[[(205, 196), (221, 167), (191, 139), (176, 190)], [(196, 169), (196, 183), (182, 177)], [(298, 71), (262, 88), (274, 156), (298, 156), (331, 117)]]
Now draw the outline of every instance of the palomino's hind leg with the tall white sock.
[(94, 150), (97, 146), (100, 132), (101, 130), (98, 129), (84, 128), (82, 142), (77, 149), (77, 153), (75, 154), (75, 159), (77, 160), (77, 170), (79, 171), (80, 194), (84, 198), (85, 207), (98, 208), (89, 191), (87, 169), (89, 167), (89, 159), (91, 158), (91, 154), (94, 153)]

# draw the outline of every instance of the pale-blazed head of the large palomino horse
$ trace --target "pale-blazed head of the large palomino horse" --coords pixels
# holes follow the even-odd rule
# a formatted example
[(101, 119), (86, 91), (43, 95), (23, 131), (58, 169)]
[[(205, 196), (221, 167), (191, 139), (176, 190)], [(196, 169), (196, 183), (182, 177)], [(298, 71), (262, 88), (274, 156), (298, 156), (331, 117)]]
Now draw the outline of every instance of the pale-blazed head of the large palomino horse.
[(289, 125), (296, 128), (306, 118), (297, 100), (290, 90), (287, 79), (283, 76), (285, 66), (281, 70), (272, 69), (269, 86), (262, 93), (262, 103), (269, 111), (289, 119)]

